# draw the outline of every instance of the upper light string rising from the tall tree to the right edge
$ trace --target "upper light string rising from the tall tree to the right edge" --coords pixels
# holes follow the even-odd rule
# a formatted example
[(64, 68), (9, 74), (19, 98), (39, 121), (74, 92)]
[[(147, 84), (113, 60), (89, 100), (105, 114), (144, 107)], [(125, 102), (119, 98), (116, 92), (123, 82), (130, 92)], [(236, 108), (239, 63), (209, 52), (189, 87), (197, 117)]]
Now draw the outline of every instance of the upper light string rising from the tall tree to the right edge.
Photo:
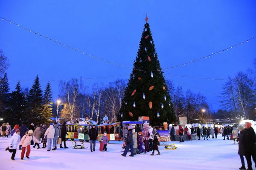
[(235, 44), (233, 46), (229, 46), (229, 47), (227, 47), (225, 49), (222, 49), (220, 51), (217, 51), (217, 52), (212, 52), (212, 54), (210, 54), (210, 55), (206, 55), (206, 56), (203, 56), (201, 58), (195, 59), (193, 61), (189, 61), (187, 63), (183, 63), (183, 64), (180, 64), (180, 65), (177, 65), (177, 66), (172, 66), (172, 67), (169, 67), (169, 68), (166, 68), (166, 69), (163, 69), (163, 70), (174, 69), (174, 68), (177, 68), (177, 67), (186, 66), (188, 64), (195, 63), (197, 61), (201, 61), (201, 60), (203, 60), (205, 58), (212, 57), (213, 55), (221, 54), (222, 52), (228, 51), (229, 49), (232, 49), (233, 47), (238, 47), (239, 45), (242, 45), (244, 43), (248, 43), (250, 40), (253, 40), (253, 39), (254, 39), (254, 37), (251, 37), (251, 38), (249, 38), (247, 40), (242, 41), (241, 43), (237, 43), (237, 44)]

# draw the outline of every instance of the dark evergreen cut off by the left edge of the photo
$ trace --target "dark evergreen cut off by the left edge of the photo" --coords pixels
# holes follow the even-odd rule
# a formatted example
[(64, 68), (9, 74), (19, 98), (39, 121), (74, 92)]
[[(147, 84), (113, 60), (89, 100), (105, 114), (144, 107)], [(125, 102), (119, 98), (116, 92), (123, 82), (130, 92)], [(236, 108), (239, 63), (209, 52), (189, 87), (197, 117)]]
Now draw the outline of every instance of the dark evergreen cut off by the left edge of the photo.
[(5, 73), (3, 78), (0, 78), (0, 116), (4, 119), (7, 118), (9, 109), (9, 90), (9, 82)]

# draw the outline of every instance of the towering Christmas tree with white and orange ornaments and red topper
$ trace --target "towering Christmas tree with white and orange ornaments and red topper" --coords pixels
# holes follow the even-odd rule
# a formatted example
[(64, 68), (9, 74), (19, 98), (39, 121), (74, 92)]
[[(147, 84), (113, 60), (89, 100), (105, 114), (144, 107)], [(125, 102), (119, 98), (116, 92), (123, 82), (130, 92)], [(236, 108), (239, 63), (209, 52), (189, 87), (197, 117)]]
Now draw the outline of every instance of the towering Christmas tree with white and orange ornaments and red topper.
[(159, 126), (164, 121), (171, 123), (176, 118), (154, 48), (148, 17), (145, 20), (140, 48), (125, 89), (118, 119), (119, 121), (137, 121), (139, 116), (149, 116), (150, 124)]

